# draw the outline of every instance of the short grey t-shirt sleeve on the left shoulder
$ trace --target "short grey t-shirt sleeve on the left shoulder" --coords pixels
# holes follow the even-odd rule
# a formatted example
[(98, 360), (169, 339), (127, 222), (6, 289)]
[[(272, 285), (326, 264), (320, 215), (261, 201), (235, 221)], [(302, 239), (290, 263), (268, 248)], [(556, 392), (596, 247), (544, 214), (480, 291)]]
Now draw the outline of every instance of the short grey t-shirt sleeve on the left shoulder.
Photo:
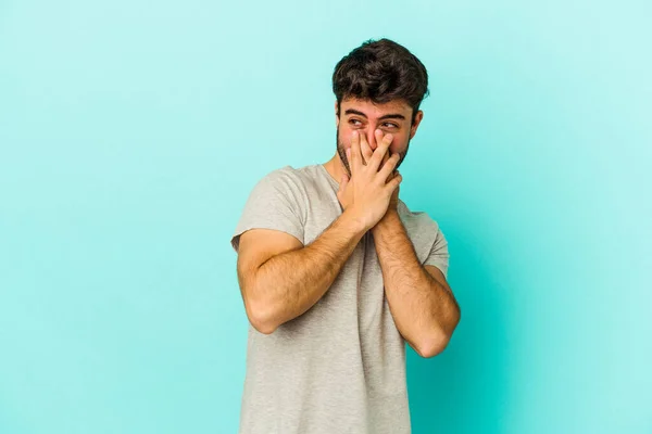
[(249, 229), (283, 231), (303, 243), (305, 201), (291, 170), (290, 166), (274, 170), (254, 186), (230, 240), (236, 252), (240, 235)]

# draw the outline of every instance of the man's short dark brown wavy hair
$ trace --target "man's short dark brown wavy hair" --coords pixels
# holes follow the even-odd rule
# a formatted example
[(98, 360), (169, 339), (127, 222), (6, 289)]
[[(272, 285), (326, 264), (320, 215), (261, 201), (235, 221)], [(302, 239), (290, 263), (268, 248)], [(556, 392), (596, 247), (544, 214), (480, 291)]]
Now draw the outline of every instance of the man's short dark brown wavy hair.
[(428, 72), (405, 47), (383, 38), (369, 39), (343, 56), (333, 72), (333, 92), (338, 115), (348, 98), (371, 100), (375, 104), (404, 100), (416, 112), (429, 94)]

